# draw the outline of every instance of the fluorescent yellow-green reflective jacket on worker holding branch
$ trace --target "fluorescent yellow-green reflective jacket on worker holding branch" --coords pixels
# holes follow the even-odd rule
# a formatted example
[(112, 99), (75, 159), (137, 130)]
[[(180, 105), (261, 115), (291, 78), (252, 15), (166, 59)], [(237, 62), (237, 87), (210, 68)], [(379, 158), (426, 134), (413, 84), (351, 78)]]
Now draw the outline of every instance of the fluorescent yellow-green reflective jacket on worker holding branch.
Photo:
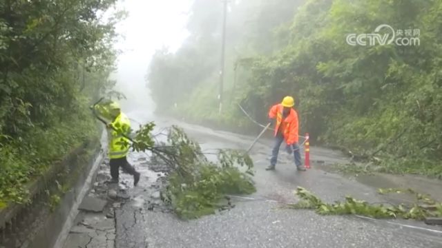
[(111, 125), (113, 125), (113, 127), (119, 132), (113, 129), (109, 132), (111, 135), (111, 141), (109, 142), (109, 158), (123, 158), (124, 156), (127, 156), (131, 145), (128, 138), (123, 136), (123, 134), (129, 136), (131, 132), (131, 121), (129, 121), (129, 118), (125, 114), (120, 113)]

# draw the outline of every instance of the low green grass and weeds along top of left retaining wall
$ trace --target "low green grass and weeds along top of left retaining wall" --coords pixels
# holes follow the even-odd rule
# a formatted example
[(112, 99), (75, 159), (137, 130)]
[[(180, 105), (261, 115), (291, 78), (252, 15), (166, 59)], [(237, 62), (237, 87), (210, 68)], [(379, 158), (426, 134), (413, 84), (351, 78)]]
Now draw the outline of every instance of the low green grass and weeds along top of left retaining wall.
[(4, 138), (0, 145), (0, 209), (10, 203), (27, 203), (28, 183), (98, 135), (93, 117), (73, 117), (50, 128), (34, 127), (21, 138)]

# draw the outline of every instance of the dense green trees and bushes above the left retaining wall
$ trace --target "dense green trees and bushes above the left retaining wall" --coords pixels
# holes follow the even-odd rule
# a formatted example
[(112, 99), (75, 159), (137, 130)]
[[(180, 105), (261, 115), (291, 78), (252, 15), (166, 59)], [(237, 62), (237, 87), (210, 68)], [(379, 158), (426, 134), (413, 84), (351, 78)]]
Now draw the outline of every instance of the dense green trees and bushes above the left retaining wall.
[(99, 135), (88, 106), (113, 86), (115, 0), (1, 1), (0, 209)]

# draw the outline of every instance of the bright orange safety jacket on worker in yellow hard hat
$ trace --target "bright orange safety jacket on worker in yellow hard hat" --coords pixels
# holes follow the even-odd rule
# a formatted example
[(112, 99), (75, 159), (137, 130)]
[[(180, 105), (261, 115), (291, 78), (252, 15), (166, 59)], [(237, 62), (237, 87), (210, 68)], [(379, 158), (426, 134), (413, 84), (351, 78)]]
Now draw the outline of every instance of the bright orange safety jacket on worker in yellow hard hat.
[(278, 134), (278, 131), (281, 130), (287, 145), (293, 145), (294, 143), (298, 143), (299, 141), (298, 114), (293, 108), (291, 108), (289, 115), (284, 120), (282, 120), (283, 110), (284, 107), (279, 103), (273, 105), (269, 111), (269, 118), (276, 117), (274, 136), (276, 136), (276, 134)]

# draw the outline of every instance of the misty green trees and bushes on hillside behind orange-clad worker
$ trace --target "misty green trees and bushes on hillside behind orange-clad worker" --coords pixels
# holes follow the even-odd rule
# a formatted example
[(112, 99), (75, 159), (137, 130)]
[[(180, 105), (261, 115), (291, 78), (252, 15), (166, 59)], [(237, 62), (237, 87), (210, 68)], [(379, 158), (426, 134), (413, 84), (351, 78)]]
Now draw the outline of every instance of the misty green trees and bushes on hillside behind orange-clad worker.
[[(300, 132), (309, 132), (311, 144), (336, 147), (381, 172), (442, 175), (441, 1), (240, 1), (230, 7), (222, 114), (223, 8), (204, 0), (195, 1), (182, 47), (157, 51), (151, 63), (148, 87), (158, 112), (251, 132), (259, 127), (238, 104), (265, 123), (269, 107), (292, 94)], [(347, 34), (373, 33), (381, 24), (394, 28), (396, 38), (419, 43), (346, 42)]]

